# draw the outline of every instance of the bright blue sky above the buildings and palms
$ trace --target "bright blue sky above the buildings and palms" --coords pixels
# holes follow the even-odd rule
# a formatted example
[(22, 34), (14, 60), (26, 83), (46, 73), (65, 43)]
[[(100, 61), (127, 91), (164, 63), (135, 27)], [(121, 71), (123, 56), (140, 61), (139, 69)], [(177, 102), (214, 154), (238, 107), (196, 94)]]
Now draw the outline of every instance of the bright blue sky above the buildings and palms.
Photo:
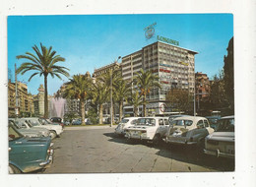
[[(52, 46), (66, 59), (58, 65), (70, 69), (70, 75), (91, 74), (95, 68), (112, 63), (156, 41), (146, 39), (144, 28), (157, 23), (156, 35), (179, 41), (179, 46), (199, 52), (196, 72), (212, 78), (224, 66), (224, 55), (233, 36), (231, 14), (152, 14), (152, 15), (80, 15), (80, 16), (9, 16), (8, 68), (14, 79), (16, 56), (32, 52), (34, 44)], [(28, 83), (32, 72), (18, 75)], [(48, 92), (54, 94), (64, 81), (48, 78)], [(29, 92), (37, 94), (43, 77), (33, 77)]]

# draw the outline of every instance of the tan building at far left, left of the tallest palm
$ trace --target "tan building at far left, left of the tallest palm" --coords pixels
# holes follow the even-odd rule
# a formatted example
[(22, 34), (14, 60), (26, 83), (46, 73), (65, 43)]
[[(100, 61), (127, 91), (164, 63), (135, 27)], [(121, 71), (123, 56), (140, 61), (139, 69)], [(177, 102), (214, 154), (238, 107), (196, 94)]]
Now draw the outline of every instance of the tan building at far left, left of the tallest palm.
[[(18, 108), (19, 113), (30, 113), (34, 112), (32, 104), (32, 94), (28, 93), (28, 86), (22, 82), (17, 82), (17, 93), (18, 93)], [(15, 83), (11, 80), (8, 82), (8, 116), (15, 116), (16, 108), (16, 92)]]

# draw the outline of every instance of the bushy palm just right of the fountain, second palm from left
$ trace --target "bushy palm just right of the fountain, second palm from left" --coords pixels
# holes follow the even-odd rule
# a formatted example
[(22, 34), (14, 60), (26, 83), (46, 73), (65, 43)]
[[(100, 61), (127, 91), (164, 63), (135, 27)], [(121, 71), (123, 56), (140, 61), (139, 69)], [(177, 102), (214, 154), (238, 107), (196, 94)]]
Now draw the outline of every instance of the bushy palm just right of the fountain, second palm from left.
[(87, 75), (74, 75), (66, 84), (63, 97), (79, 99), (82, 124), (85, 124), (85, 101), (89, 96), (92, 80)]

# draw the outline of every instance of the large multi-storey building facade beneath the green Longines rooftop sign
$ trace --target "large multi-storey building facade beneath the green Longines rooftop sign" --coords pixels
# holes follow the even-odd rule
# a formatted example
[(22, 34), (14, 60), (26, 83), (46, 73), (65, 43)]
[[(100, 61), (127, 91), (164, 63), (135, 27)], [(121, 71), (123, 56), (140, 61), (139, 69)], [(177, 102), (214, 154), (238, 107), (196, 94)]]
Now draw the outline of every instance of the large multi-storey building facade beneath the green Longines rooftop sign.
[[(163, 115), (171, 112), (165, 103), (166, 94), (171, 88), (194, 93), (195, 54), (195, 51), (157, 41), (122, 58), (122, 77), (126, 81), (133, 81), (140, 69), (159, 76), (161, 89), (154, 89), (148, 94), (146, 107), (148, 114)], [(124, 113), (129, 112), (131, 106), (125, 106)]]

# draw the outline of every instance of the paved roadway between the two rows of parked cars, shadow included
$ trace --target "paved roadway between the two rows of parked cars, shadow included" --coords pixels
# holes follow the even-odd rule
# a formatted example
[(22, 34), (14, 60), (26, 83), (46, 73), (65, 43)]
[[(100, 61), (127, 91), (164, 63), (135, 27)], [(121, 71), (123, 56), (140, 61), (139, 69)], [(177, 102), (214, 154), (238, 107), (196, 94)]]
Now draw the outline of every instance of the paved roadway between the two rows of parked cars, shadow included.
[(162, 143), (127, 142), (114, 127), (66, 127), (54, 142), (54, 159), (42, 173), (233, 171), (234, 161)]

